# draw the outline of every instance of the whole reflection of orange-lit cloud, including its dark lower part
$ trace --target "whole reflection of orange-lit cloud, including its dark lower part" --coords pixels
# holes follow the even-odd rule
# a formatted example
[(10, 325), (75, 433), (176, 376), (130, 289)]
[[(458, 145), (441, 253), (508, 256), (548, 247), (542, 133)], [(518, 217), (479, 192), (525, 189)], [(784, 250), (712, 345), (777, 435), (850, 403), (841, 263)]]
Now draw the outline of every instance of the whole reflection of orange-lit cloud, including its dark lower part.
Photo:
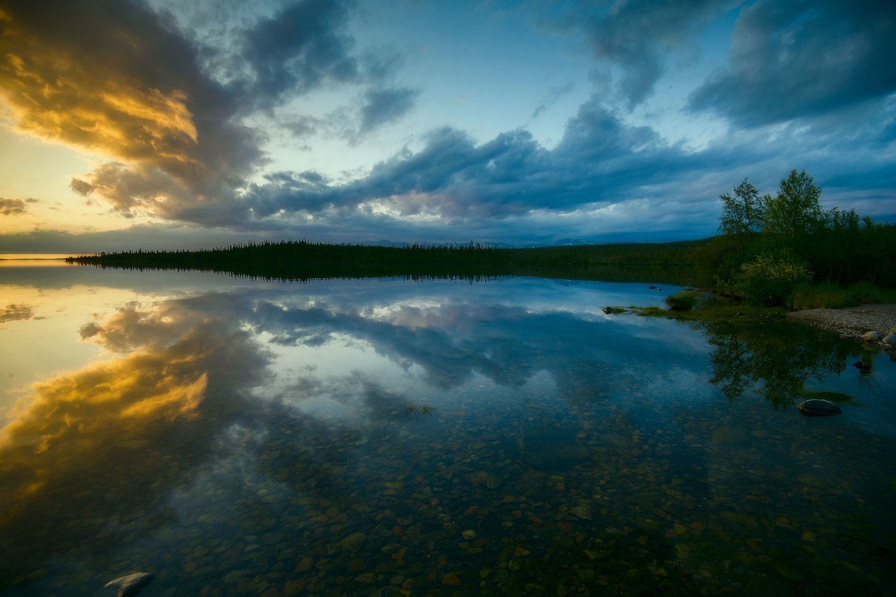
[(127, 306), (82, 334), (119, 355), (35, 384), (0, 431), (0, 576), (46, 557), (29, 537), (61, 551), (125, 516), (150, 524), (268, 362), (234, 322), (185, 301)]

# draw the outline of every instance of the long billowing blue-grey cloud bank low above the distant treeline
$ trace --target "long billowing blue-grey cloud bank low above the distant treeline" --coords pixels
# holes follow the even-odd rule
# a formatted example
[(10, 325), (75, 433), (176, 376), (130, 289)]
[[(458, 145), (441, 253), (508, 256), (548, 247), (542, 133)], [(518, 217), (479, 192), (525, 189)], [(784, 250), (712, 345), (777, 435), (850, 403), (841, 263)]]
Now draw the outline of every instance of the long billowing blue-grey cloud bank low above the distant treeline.
[(253, 186), (245, 199), (259, 217), (335, 208), (470, 221), (623, 200), (654, 179), (675, 176), (688, 161), (649, 128), (622, 123), (598, 98), (582, 105), (552, 150), (524, 130), (480, 145), (450, 127), (424, 139), (416, 153), (402, 149), (352, 183), (280, 176)]

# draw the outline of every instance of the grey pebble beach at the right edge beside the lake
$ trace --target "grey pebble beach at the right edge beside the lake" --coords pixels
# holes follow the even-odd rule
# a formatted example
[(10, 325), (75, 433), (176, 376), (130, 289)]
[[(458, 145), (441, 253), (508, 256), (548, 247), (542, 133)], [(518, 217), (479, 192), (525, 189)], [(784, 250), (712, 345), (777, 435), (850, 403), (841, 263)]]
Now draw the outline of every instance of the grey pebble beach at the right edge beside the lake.
[[(896, 345), (883, 342), (883, 338), (892, 337), (896, 328), (896, 304), (863, 304), (846, 309), (806, 309), (788, 313), (788, 318), (837, 332), (843, 337), (864, 339), (887, 354), (896, 355)], [(863, 338), (867, 332), (877, 332), (882, 340), (869, 341)]]

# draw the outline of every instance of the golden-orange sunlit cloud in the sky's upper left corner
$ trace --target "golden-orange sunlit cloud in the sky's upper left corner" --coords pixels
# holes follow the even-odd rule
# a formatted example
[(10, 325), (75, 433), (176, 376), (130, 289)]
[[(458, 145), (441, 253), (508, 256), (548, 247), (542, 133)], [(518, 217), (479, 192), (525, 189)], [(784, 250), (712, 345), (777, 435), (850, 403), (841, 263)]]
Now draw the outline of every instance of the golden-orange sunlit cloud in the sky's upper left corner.
[[(198, 48), (142, 4), (20, 3), (3, 20), (0, 93), (19, 129), (121, 160), (74, 181), (78, 191), (123, 213), (177, 218), (185, 201), (231, 200), (232, 183), (259, 163), (235, 98), (201, 72)], [(110, 183), (110, 168), (126, 180)], [(147, 193), (135, 181), (162, 184)]]

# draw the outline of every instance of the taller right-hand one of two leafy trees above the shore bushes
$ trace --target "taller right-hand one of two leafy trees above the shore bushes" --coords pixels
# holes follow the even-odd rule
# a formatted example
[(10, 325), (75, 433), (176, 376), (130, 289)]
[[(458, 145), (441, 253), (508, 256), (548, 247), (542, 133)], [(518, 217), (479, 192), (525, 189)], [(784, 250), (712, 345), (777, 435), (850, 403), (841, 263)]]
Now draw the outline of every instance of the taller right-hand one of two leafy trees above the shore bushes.
[(803, 170), (790, 172), (781, 179), (778, 194), (762, 198), (762, 228), (788, 241), (814, 229), (822, 223), (823, 211), (818, 201), (822, 188)]

